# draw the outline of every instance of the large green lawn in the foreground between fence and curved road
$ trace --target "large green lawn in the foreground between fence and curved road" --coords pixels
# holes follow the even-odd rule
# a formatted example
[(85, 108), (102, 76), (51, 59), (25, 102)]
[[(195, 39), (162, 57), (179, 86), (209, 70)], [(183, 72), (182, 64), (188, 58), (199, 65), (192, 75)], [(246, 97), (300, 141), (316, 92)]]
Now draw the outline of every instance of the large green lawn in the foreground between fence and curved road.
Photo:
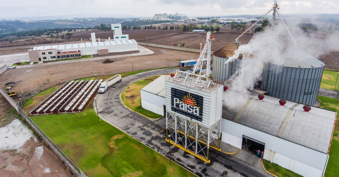
[(98, 120), (89, 108), (79, 113), (33, 116), (32, 120), (88, 176), (195, 176), (124, 132)]

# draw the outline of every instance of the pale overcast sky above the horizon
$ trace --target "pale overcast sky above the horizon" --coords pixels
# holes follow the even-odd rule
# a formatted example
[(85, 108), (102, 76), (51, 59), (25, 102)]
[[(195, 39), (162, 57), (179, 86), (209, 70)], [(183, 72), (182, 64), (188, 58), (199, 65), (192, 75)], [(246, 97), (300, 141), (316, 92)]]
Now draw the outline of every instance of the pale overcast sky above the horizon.
[[(126, 14), (138, 17), (181, 13), (190, 17), (259, 15), (272, 0), (1, 0), (0, 18), (74, 14)], [(280, 11), (290, 13), (339, 13), (339, 0), (280, 0)]]

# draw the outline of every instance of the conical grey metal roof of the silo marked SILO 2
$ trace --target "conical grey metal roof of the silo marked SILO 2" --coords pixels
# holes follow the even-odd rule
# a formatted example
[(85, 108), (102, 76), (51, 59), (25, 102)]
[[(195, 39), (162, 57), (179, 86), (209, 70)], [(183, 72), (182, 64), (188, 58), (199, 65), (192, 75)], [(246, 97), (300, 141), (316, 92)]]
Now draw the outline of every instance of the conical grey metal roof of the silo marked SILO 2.
[(278, 57), (270, 59), (269, 63), (292, 68), (321, 68), (325, 66), (320, 60), (297, 46), (283, 50)]

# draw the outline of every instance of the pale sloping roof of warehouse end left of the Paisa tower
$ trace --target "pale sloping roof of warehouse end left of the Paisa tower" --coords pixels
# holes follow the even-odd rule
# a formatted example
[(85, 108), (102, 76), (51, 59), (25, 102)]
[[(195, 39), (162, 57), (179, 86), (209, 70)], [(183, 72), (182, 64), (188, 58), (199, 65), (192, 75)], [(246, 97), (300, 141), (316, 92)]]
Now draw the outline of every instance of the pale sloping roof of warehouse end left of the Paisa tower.
[(153, 93), (156, 95), (159, 95), (163, 98), (165, 98), (165, 77), (166, 75), (161, 75), (158, 78), (156, 78), (151, 83), (147, 84), (144, 88), (141, 90), (144, 90), (149, 93)]

